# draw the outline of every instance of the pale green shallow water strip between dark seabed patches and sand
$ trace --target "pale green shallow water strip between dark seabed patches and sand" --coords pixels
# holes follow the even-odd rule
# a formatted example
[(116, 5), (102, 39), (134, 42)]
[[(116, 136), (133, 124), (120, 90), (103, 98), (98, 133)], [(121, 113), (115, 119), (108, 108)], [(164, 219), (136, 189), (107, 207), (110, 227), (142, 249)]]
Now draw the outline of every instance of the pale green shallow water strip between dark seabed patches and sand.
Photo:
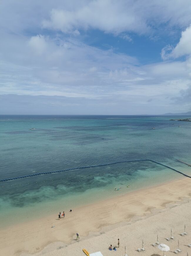
[[(162, 175), (162, 174), (161, 174)], [(165, 173), (163, 173), (165, 175)], [(172, 178), (173, 177), (173, 178)], [(171, 182), (173, 180), (176, 180), (178, 177), (181, 177), (180, 174), (175, 173), (175, 175), (172, 175), (170, 177), (166, 177), (166, 182)], [(130, 187), (127, 187), (125, 183), (119, 180), (116, 184), (116, 182), (110, 183), (110, 186), (106, 187), (100, 187), (99, 190), (96, 190), (96, 188), (89, 188), (82, 193), (71, 193), (66, 195), (66, 197), (56, 197), (53, 200), (53, 197), (50, 196), (49, 186), (42, 186), (39, 190), (36, 190), (36, 193), (39, 195), (41, 194), (41, 198), (46, 196), (46, 193), (48, 193), (48, 196), (50, 197), (49, 200), (42, 201), (41, 203), (29, 203), (28, 205), (24, 207), (11, 207), (11, 204), (5, 204), (2, 208), (2, 212), (0, 215), (0, 229), (4, 229), (6, 227), (9, 227), (11, 225), (16, 224), (23, 224), (24, 222), (29, 221), (35, 221), (42, 218), (42, 216), (50, 216), (55, 215), (57, 216), (58, 212), (60, 211), (67, 211), (68, 209), (74, 209), (74, 208), (80, 208), (82, 206), (88, 206), (94, 203), (102, 202), (103, 200), (109, 200), (112, 198), (116, 198), (119, 195), (124, 195), (128, 193), (132, 193), (135, 191), (138, 191), (140, 189), (145, 189), (153, 186), (157, 186), (161, 183), (160, 180), (158, 180), (159, 177), (155, 177), (153, 179), (152, 176), (147, 177), (147, 180), (143, 178), (137, 182), (137, 180), (133, 180)], [(182, 178), (185, 178), (182, 176)], [(119, 191), (114, 191), (114, 187), (122, 187)], [(54, 191), (53, 191), (54, 192)], [(37, 194), (31, 194), (31, 196), (36, 196)], [(62, 192), (61, 192), (62, 193)], [(30, 194), (30, 191), (29, 191)], [(37, 195), (38, 196), (38, 195)], [(40, 198), (40, 200), (41, 200)], [(22, 198), (21, 198), (22, 200)], [(63, 203), (64, 202), (64, 203)], [(19, 203), (19, 202), (18, 202)], [(7, 206), (7, 207), (6, 207)], [(64, 206), (64, 207), (63, 207)], [(14, 215), (11, 216), (11, 219), (8, 220), (7, 216), (9, 216), (9, 213), (11, 211), (14, 211)]]

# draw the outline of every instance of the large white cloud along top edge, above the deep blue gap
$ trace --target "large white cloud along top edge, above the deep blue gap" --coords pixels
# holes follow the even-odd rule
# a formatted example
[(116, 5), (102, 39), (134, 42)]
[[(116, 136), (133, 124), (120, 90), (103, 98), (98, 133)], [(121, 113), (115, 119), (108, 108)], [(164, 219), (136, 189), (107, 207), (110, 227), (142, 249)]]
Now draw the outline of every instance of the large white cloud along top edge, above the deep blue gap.
[(65, 33), (73, 33), (76, 29), (99, 29), (118, 35), (127, 31), (145, 34), (159, 30), (161, 24), (166, 28), (187, 26), (191, 17), (185, 6), (189, 5), (189, 0), (184, 0), (184, 4), (174, 0), (81, 1), (78, 8), (67, 9), (64, 4), (59, 9), (53, 8), (42, 25)]

